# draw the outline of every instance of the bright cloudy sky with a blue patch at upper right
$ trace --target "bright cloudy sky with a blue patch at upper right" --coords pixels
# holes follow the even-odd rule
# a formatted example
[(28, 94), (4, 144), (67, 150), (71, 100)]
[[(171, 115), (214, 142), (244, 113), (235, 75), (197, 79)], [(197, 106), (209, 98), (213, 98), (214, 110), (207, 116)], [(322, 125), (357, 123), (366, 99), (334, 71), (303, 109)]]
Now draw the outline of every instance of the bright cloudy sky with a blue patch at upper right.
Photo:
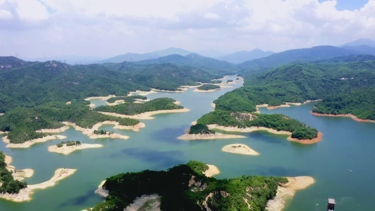
[(375, 0), (0, 0), (0, 56), (206, 54), (375, 35)]

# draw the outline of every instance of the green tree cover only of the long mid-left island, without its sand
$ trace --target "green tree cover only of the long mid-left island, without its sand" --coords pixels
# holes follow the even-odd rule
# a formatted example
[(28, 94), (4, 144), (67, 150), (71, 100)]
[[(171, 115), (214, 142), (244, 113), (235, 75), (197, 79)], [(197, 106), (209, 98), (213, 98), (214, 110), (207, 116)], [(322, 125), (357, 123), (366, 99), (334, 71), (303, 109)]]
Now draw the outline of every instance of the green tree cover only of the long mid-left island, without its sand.
[(114, 106), (98, 106), (94, 111), (98, 112), (109, 112), (117, 113), (122, 115), (137, 115), (145, 112), (154, 112), (158, 110), (174, 110), (174, 109), (183, 109), (181, 105), (177, 105), (174, 102), (177, 102), (171, 98), (157, 98), (145, 103), (124, 103)]

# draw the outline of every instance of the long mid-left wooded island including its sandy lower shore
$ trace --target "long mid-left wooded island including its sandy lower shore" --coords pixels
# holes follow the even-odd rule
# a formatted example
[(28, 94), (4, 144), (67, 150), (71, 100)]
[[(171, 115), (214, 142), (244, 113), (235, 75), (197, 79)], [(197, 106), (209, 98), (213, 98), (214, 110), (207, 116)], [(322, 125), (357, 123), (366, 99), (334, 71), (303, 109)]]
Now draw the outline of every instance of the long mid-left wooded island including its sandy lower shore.
[(153, 119), (151, 115), (159, 113), (188, 112), (178, 101), (171, 98), (157, 98), (145, 103), (124, 103), (114, 106), (99, 106), (94, 111), (110, 116), (130, 119)]

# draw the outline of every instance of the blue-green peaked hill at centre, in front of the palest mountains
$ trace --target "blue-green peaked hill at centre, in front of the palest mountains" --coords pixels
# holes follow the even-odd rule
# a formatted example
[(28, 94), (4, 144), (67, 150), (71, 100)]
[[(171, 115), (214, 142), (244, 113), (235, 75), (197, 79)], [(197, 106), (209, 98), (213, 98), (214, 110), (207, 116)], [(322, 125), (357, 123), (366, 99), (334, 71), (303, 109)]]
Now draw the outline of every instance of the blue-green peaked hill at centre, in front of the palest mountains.
[(195, 68), (204, 69), (209, 72), (219, 72), (220, 74), (236, 74), (237, 68), (235, 65), (213, 59), (210, 57), (201, 56), (199, 54), (189, 54), (187, 56), (181, 56), (178, 54), (172, 54), (169, 56), (159, 57), (157, 59), (143, 60), (137, 63), (140, 64), (161, 64), (161, 63), (171, 63), (174, 65), (187, 65)]

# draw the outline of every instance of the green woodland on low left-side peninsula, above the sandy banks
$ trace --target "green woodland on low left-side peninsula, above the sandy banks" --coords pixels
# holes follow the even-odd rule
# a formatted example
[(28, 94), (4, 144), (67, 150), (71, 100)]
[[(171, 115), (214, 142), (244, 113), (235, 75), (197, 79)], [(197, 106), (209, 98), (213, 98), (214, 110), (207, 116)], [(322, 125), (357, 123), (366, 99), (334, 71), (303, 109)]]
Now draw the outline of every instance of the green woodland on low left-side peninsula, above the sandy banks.
[(82, 128), (92, 128), (104, 121), (114, 121), (124, 126), (139, 124), (135, 119), (94, 112), (87, 107), (87, 103), (83, 100), (73, 100), (71, 104), (49, 102), (33, 108), (19, 107), (0, 117), (0, 131), (9, 131), (7, 139), (10, 143), (24, 143), (47, 136), (45, 133), (36, 132), (37, 130), (64, 127), (65, 124), (62, 122), (72, 122)]

